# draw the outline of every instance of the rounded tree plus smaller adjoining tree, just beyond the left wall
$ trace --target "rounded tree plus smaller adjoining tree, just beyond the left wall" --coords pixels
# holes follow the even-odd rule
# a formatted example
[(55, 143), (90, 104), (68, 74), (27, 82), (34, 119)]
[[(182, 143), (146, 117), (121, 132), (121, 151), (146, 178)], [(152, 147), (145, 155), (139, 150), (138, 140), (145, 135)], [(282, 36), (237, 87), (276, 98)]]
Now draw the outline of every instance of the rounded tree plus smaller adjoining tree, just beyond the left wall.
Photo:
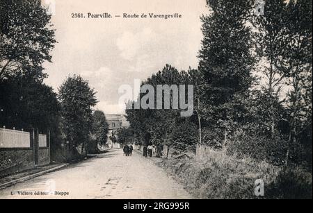
[[(97, 144), (106, 144), (109, 125), (104, 112), (93, 110), (97, 104), (95, 91), (81, 76), (67, 78), (59, 88), (58, 100), (61, 105), (61, 130), (67, 140), (70, 151), (75, 154), (81, 147), (81, 153), (97, 151)], [(93, 148), (86, 148), (86, 146)]]

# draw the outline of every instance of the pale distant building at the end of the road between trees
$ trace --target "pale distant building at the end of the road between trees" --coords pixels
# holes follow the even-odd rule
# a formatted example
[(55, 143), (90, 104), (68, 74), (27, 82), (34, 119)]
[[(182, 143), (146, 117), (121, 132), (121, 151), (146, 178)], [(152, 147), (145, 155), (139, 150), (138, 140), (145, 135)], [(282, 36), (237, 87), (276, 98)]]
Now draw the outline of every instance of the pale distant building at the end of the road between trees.
[(127, 121), (124, 114), (106, 114), (106, 122), (109, 124), (107, 142), (109, 148), (120, 148), (120, 144), (112, 142), (110, 137), (113, 137), (118, 129), (129, 127), (129, 122)]

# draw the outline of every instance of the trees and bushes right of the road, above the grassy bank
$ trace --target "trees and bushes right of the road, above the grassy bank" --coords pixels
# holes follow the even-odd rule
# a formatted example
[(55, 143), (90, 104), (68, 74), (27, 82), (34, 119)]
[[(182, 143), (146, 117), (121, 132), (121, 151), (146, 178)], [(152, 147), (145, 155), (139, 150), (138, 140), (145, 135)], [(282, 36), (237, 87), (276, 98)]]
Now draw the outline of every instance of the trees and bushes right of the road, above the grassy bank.
[(200, 143), (275, 164), (312, 164), (312, 2), (266, 0), (264, 15), (250, 0), (207, 5), (198, 70), (167, 65), (143, 82), (193, 84), (193, 117), (128, 109), (135, 136), (182, 150)]

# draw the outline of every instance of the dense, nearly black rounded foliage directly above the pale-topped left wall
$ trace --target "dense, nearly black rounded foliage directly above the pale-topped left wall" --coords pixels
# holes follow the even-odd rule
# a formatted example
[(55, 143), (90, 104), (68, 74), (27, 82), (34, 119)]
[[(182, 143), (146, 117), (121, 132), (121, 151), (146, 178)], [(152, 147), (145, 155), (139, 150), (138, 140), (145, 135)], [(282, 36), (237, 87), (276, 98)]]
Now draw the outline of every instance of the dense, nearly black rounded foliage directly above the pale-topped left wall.
[(46, 131), (53, 128), (59, 113), (51, 87), (32, 76), (15, 76), (0, 84), (0, 126)]

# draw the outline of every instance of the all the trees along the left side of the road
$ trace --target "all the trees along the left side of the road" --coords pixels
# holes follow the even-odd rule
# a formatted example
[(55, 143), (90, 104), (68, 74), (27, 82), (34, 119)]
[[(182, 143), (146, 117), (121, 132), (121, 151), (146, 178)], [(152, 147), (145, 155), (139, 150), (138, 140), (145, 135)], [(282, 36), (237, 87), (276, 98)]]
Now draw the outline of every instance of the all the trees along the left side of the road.
[(56, 44), (50, 19), (40, 1), (0, 0), (0, 125), (49, 129), (52, 155), (64, 147), (77, 155), (87, 142), (105, 144), (108, 124), (93, 110), (97, 100), (88, 81), (69, 77), (58, 94), (43, 83), (42, 63), (51, 62)]

